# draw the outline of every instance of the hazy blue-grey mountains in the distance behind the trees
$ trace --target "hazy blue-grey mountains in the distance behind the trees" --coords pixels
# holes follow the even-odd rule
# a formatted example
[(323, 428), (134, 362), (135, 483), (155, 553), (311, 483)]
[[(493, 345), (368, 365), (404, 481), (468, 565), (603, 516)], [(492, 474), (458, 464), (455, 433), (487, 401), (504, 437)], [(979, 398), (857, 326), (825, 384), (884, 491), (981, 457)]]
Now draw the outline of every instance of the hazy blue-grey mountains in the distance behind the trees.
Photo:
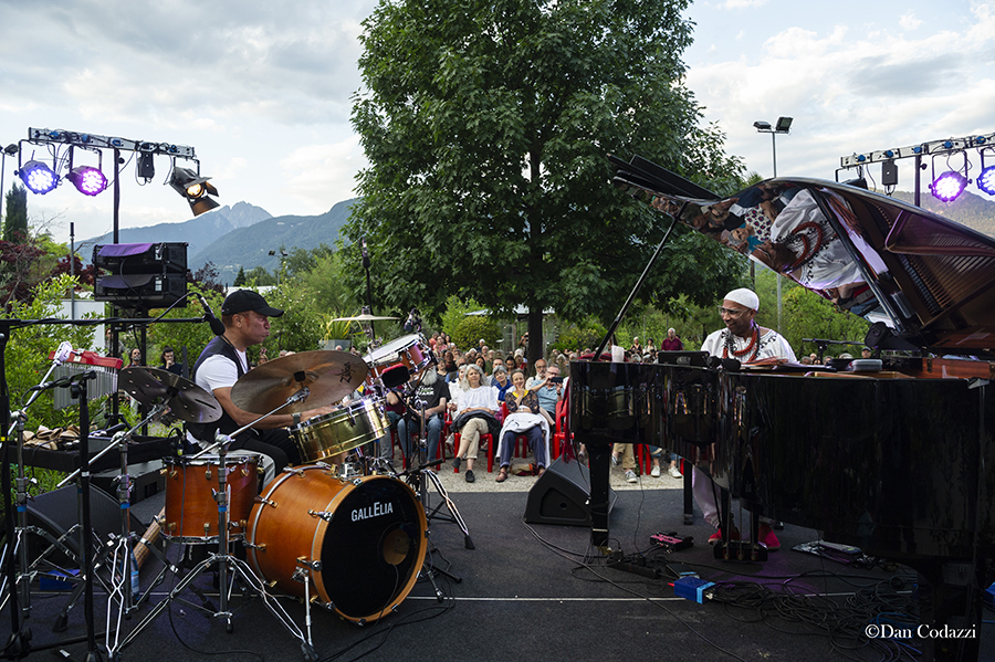
[[(893, 197), (909, 203), (913, 199), (912, 193), (907, 191), (896, 191)], [(344, 200), (325, 213), (313, 217), (274, 217), (249, 202), (238, 202), (233, 207), (226, 204), (182, 223), (121, 230), (121, 243), (186, 241), (189, 244), (187, 265), (191, 271), (211, 262), (221, 282), (231, 284), (241, 267), (250, 271), (262, 266), (275, 271), (277, 258), (270, 255), (270, 251), (310, 251), (322, 243), (334, 246), (357, 200)], [(941, 202), (926, 190), (922, 192), (920, 202), (924, 209), (995, 237), (995, 202), (987, 198), (964, 191), (953, 202)], [(108, 233), (86, 243), (93, 245), (111, 241)]]

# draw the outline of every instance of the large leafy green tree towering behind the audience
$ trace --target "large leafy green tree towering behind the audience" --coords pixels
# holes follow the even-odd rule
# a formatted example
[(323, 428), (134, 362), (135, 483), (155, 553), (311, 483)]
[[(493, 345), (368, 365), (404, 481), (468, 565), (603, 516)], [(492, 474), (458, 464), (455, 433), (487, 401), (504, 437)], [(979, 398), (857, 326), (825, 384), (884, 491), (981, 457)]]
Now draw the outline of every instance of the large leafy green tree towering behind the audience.
[[(376, 301), (438, 319), (447, 297), (610, 319), (667, 221), (610, 186), (638, 153), (719, 192), (742, 164), (700, 128), (680, 54), (685, 0), (399, 0), (364, 23), (353, 124), (370, 162), (345, 231), (349, 286), (366, 238)], [(735, 185), (735, 186), (733, 186)], [(742, 261), (678, 229), (642, 302), (713, 303)]]

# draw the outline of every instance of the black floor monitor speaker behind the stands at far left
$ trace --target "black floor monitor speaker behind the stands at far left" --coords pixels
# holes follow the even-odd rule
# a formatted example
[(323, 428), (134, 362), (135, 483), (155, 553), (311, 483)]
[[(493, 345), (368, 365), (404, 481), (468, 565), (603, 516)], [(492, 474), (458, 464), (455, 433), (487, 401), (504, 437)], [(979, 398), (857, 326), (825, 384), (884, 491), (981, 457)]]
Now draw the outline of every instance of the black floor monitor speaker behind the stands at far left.
[[(36, 526), (44, 529), (55, 538), (63, 535), (80, 521), (76, 492), (75, 485), (66, 485), (29, 500), (27, 509), (28, 526)], [(142, 521), (135, 515), (130, 515), (130, 518), (132, 532), (142, 534), (146, 528)], [(93, 485), (91, 485), (90, 492), (90, 523), (101, 540), (106, 540), (109, 534), (121, 533), (121, 504), (117, 503), (116, 498)], [(82, 556), (80, 536), (67, 536), (65, 546), (77, 558)], [(44, 538), (29, 536), (28, 551), (31, 560), (38, 558), (48, 547), (49, 543)], [(94, 549), (94, 554), (96, 554), (96, 549)], [(62, 553), (55, 553), (46, 558), (59, 565), (75, 567), (75, 564), (70, 561)]]

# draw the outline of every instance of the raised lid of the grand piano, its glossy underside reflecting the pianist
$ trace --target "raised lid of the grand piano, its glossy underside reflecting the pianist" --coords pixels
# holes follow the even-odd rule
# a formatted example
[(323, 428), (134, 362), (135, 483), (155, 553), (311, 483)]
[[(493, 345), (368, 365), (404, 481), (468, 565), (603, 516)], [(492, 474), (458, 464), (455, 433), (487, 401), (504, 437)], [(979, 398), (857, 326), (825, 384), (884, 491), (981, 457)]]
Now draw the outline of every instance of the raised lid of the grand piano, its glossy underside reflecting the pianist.
[(886, 325), (897, 337), (881, 347), (995, 350), (992, 238), (846, 183), (777, 178), (721, 199), (646, 159), (610, 158), (635, 198)]

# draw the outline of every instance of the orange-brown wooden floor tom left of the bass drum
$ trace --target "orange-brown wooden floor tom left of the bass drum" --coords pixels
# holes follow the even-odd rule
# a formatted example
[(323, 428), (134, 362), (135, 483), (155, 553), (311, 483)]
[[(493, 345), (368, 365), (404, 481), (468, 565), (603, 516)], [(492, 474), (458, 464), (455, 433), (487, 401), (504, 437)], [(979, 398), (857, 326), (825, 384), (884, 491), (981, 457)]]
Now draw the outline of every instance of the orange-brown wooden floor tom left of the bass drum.
[[(163, 459), (166, 464), (166, 522), (163, 536), (185, 544), (218, 542), (218, 455), (196, 460), (176, 456)], [(240, 539), (252, 503), (259, 494), (259, 456), (227, 455), (228, 535)]]

